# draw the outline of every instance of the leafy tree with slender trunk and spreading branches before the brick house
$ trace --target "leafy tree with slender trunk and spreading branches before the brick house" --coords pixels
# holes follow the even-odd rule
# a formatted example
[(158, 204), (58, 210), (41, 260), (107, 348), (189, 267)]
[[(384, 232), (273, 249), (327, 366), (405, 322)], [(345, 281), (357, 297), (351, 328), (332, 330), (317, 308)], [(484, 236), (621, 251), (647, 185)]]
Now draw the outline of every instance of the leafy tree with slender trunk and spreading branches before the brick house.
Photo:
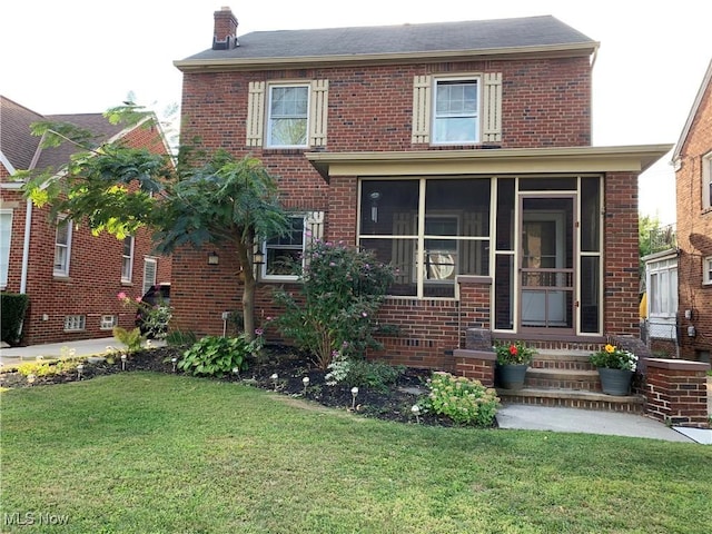
[[(131, 103), (105, 116), (137, 126), (156, 120)], [(176, 162), (170, 155), (121, 141), (99, 145), (91, 132), (69, 123), (39, 122), (32, 132), (43, 137), (43, 147), (77, 147), (61, 179), (53, 178), (58, 169), (17, 174), (27, 180), (27, 198), (51, 206), (51, 220), (67, 214), (96, 235), (107, 231), (119, 239), (145, 227), (161, 254), (184, 245), (231, 245), (243, 266), (245, 333), (254, 338), (254, 247), (287, 228), (277, 182), (258, 159), (181, 147)]]

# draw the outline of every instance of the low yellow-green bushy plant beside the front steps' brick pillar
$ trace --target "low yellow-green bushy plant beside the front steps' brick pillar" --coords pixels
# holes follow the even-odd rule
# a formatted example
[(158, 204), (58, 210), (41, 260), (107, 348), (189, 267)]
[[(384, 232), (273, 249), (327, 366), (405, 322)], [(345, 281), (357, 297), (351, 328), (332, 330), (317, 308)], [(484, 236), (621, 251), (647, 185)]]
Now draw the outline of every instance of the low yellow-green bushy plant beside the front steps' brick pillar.
[(449, 373), (433, 373), (428, 382), (431, 394), (421, 403), (423, 411), (445, 415), (458, 425), (491, 427), (494, 424), (500, 398), (479, 380)]

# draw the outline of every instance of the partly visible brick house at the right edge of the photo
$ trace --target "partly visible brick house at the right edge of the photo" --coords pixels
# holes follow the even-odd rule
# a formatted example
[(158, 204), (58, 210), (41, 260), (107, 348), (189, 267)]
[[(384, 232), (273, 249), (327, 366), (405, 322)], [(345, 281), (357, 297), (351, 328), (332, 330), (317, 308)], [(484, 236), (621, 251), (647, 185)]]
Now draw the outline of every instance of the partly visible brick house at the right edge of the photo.
[(712, 352), (712, 61), (675, 150), (680, 355)]

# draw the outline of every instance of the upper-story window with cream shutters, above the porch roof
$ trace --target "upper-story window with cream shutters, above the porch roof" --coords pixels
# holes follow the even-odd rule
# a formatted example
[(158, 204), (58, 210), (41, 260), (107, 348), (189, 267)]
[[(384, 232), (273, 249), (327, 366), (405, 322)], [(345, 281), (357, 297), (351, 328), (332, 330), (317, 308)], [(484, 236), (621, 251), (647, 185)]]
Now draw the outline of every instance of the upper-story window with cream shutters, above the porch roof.
[(502, 141), (502, 73), (463, 73), (413, 80), (413, 144)]

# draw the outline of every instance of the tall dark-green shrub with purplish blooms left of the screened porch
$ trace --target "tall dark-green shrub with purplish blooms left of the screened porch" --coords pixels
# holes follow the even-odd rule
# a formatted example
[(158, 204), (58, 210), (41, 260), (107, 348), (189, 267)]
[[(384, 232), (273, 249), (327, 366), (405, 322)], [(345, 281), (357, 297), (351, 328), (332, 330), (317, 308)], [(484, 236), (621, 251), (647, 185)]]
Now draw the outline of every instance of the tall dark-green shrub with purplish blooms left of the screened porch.
[[(275, 323), (297, 347), (326, 369), (335, 354), (363, 357), (380, 348), (373, 334), (375, 316), (394, 280), (393, 269), (367, 250), (315, 241), (305, 251), (301, 295), (275, 293), (285, 312)], [(299, 270), (299, 267), (297, 268)]]

